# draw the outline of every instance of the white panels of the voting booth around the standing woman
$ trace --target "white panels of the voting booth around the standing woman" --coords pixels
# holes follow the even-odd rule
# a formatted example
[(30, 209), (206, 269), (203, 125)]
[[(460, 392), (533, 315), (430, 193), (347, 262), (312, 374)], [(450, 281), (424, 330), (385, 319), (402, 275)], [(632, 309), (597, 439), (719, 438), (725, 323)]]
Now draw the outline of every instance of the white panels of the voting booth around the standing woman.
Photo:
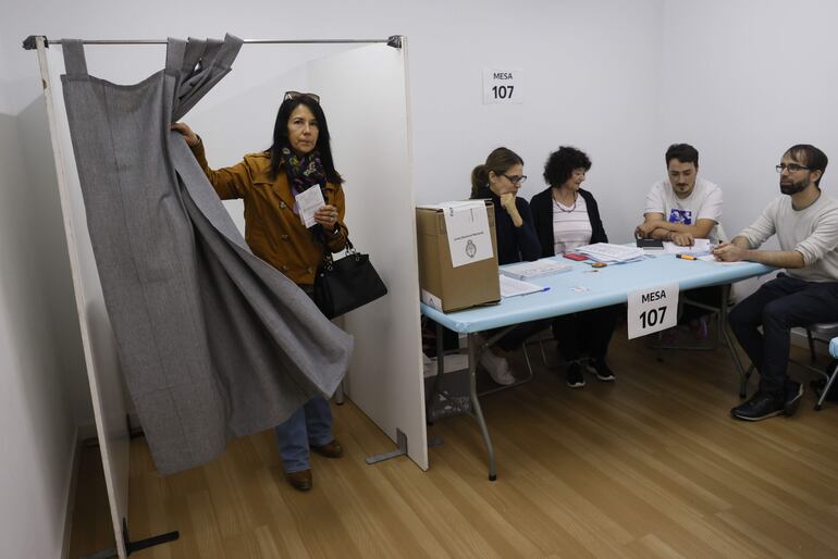
[[(143, 546), (177, 535), (170, 533), (136, 542), (128, 534), (130, 433), (125, 419), (132, 403), (120, 371), (86, 224), (60, 89), (60, 76), (64, 73), (62, 49), (58, 47), (61, 41), (48, 44), (45, 37), (32, 37), (29, 42), (37, 49), (44, 80), (50, 147), (116, 542), (116, 549), (107, 556), (122, 558)], [(165, 40), (141, 41), (141, 45), (152, 47), (135, 47), (131, 54), (118, 61), (102, 55), (102, 51), (109, 45), (132, 41), (94, 42), (97, 47), (91, 48), (88, 55), (90, 73), (114, 83), (136, 83), (165, 62), (162, 48), (153, 47), (165, 45)], [(387, 296), (375, 305), (353, 311), (343, 319), (343, 327), (355, 337), (355, 353), (346, 375), (345, 392), (393, 440), (397, 450), (390, 452), (392, 456), (406, 455), (419, 468), (427, 469), (406, 38), (244, 42), (233, 73), (185, 120), (194, 129), (200, 131), (208, 146), (210, 164), (218, 169), (235, 164), (244, 153), (270, 145), (274, 116), (284, 91), (317, 91), (320, 95), (330, 122), (336, 166), (346, 179), (345, 221), (350, 238), (359, 250), (371, 254), (389, 288)], [(292, 65), (280, 63), (271, 66), (273, 74), (266, 72), (266, 49), (281, 49), (276, 44), (284, 42), (361, 45), (325, 57), (310, 57), (311, 60), (297, 53), (287, 57), (295, 60)], [(258, 46), (248, 47), (248, 44)], [(52, 48), (47, 49), (48, 45)], [(131, 63), (125, 63), (126, 60)], [(358, 75), (366, 78), (357, 79)], [(367, 117), (370, 113), (377, 117)], [(237, 225), (244, 228), (241, 201), (225, 206)], [(387, 208), (387, 211), (374, 211), (374, 208)], [(387, 235), (381, 235), (382, 231)]]

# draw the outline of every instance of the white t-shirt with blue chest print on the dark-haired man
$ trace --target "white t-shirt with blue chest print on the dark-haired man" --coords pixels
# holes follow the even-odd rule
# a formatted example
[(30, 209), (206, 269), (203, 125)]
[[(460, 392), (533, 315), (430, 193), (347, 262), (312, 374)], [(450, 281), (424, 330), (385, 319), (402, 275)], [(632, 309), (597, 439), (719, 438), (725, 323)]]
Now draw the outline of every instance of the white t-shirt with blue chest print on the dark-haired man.
[[(687, 198), (678, 198), (668, 178), (658, 181), (646, 195), (643, 213), (663, 213), (669, 223), (695, 225), (699, 220), (713, 220), (716, 225), (710, 231), (711, 243), (718, 243), (718, 223), (722, 222), (722, 188), (695, 177), (695, 186)], [(729, 239), (723, 239), (729, 240)]]

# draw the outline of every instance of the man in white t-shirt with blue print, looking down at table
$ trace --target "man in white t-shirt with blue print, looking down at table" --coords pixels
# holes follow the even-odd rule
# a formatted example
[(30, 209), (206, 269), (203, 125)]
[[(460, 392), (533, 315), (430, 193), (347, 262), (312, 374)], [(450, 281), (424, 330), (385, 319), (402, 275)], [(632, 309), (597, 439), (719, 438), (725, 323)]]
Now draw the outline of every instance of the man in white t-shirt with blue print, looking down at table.
[(646, 195), (643, 223), (634, 235), (680, 246), (697, 238), (718, 243), (722, 189), (698, 176), (699, 151), (689, 144), (673, 144), (666, 150), (666, 170), (668, 179), (652, 185)]

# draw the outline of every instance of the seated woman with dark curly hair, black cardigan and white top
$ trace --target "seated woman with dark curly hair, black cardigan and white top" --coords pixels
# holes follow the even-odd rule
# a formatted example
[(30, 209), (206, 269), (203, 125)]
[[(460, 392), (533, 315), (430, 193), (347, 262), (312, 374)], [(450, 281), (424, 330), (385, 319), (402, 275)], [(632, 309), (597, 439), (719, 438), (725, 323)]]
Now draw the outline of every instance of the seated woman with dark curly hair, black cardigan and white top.
[[(543, 257), (572, 252), (593, 243), (607, 243), (600, 210), (591, 192), (582, 189), (591, 169), (588, 156), (569, 147), (560, 147), (544, 164), (544, 181), (550, 185), (530, 200), (535, 232)], [(605, 362), (608, 341), (614, 333), (619, 307), (605, 307), (575, 312), (553, 319), (553, 334), (558, 352), (568, 363), (567, 385), (584, 386), (580, 358), (588, 353), (587, 369), (600, 381), (614, 381)]]

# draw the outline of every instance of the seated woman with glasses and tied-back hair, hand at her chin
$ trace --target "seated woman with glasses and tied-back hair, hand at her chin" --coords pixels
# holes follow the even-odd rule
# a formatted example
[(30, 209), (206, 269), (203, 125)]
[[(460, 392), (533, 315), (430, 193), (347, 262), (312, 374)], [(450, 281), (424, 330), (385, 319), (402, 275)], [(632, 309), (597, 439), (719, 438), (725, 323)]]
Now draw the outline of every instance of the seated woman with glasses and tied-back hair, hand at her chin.
[[(490, 199), (494, 204), (500, 264), (538, 260), (541, 257), (541, 246), (532, 227), (530, 204), (517, 197), (525, 181), (527, 175), (523, 174), (523, 160), (506, 148), (493, 150), (485, 163), (471, 172), (471, 198)], [(507, 352), (518, 349), (529, 336), (546, 327), (546, 324), (543, 321), (520, 324), (480, 355), (480, 363), (494, 382), (503, 385), (515, 382)]]

